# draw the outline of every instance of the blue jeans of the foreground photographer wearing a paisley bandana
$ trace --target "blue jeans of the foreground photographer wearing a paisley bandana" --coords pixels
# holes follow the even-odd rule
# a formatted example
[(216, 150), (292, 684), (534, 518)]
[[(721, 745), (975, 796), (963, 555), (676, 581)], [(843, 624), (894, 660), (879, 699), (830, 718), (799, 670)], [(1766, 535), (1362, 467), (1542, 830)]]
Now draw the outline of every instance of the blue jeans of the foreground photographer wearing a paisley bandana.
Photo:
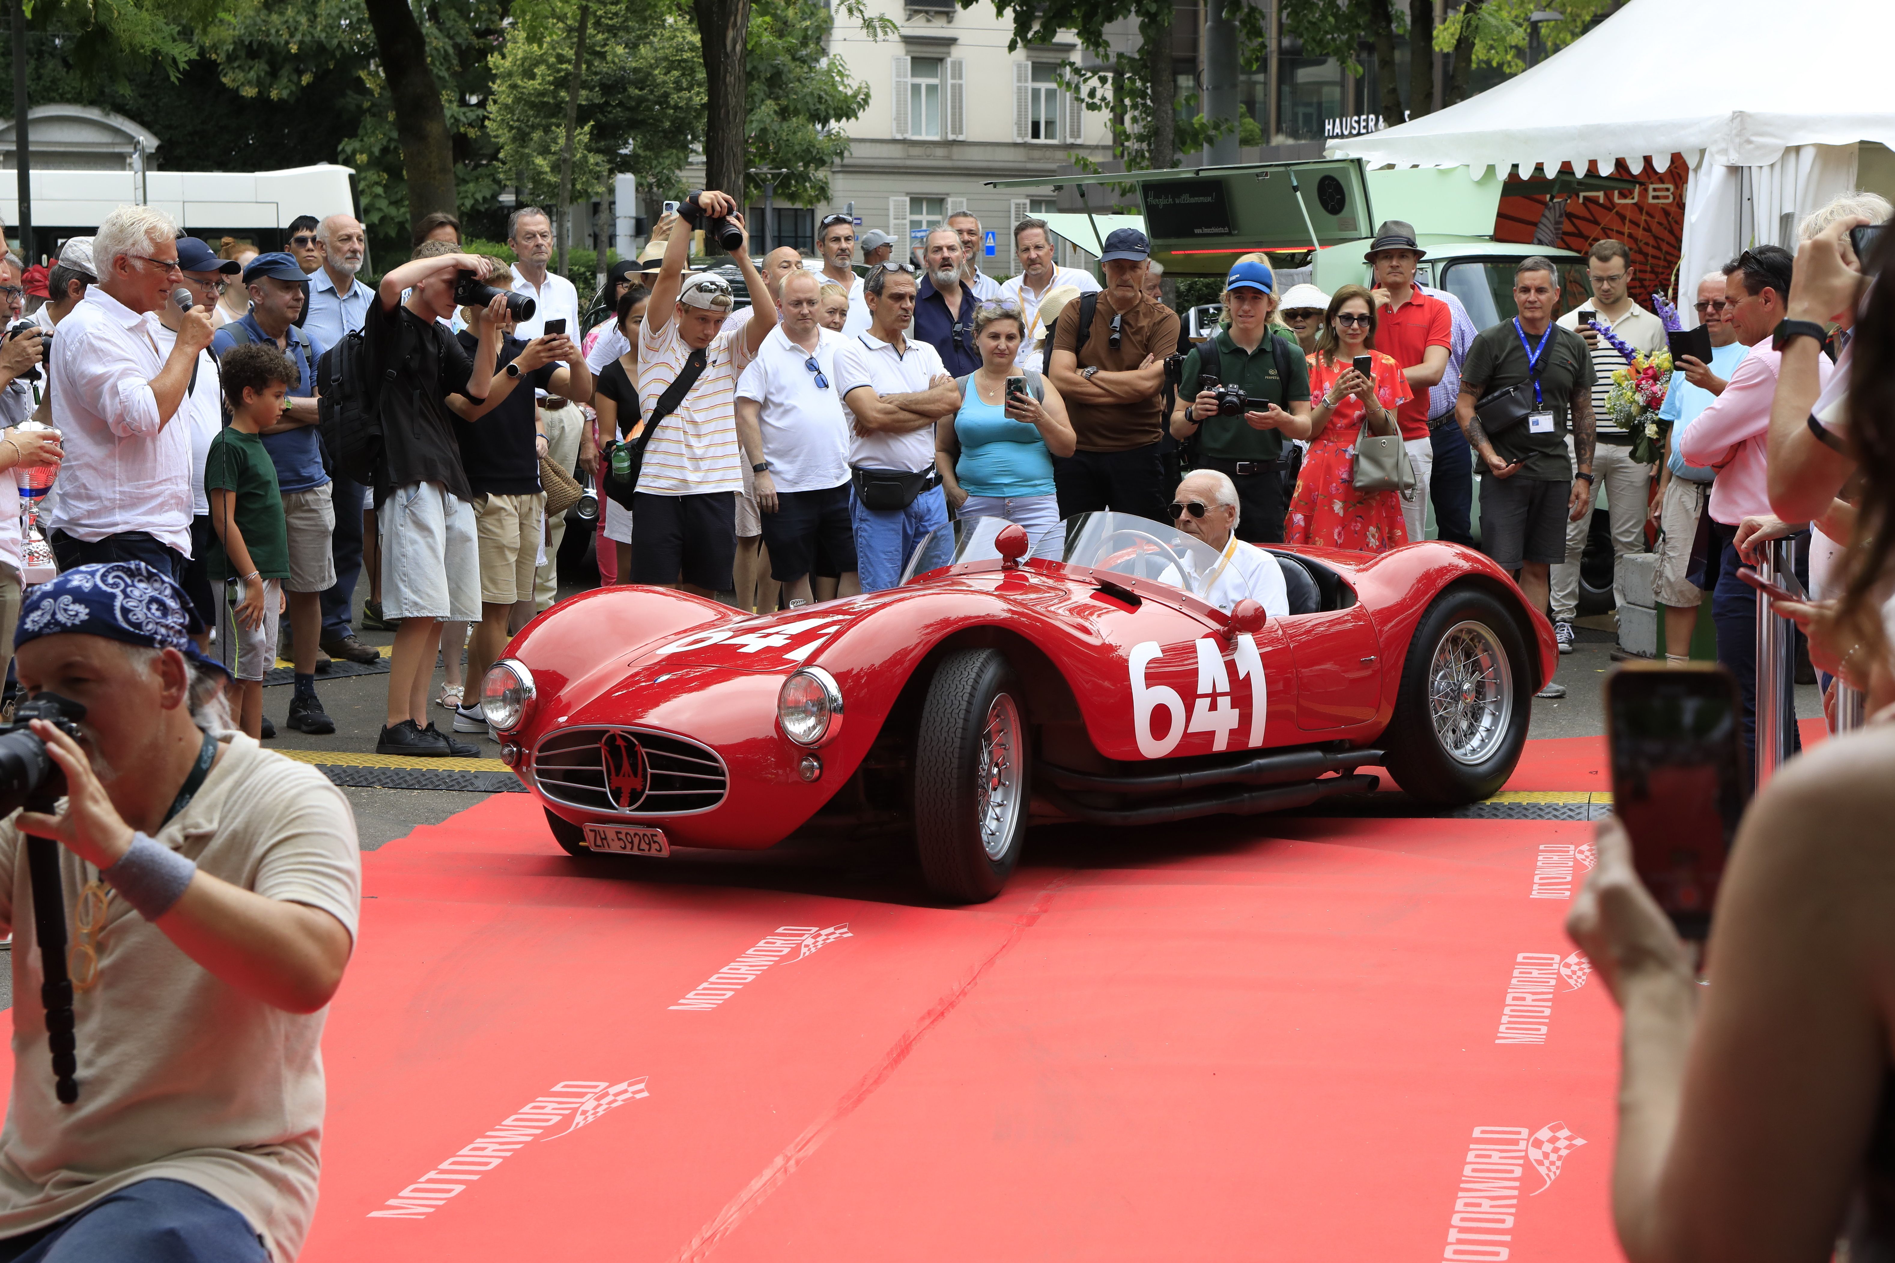
[(140, 1180), (53, 1227), (0, 1240), (0, 1263), (269, 1263), (250, 1223), (182, 1180)]

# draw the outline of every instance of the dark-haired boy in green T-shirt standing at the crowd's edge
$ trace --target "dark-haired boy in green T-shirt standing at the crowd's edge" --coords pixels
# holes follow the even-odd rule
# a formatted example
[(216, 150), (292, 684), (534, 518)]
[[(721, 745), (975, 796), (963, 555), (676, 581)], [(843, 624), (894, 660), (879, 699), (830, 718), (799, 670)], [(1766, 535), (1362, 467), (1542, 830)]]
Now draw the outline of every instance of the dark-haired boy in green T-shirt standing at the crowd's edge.
[(290, 360), (269, 343), (233, 347), (220, 362), (231, 424), (210, 439), (205, 494), (218, 549), (210, 581), (243, 581), (237, 602), (237, 723), (252, 738), (263, 733), (263, 672), (277, 661), (282, 581), (290, 578), (290, 540), (282, 523), (277, 466), (258, 432), (277, 424), (290, 392)]

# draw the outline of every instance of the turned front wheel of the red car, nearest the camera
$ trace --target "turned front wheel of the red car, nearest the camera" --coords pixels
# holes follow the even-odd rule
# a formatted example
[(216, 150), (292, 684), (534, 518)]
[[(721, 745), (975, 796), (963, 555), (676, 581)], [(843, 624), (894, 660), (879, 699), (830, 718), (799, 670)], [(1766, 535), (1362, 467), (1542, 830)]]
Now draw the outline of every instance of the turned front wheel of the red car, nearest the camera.
[[(991, 799), (980, 784), (989, 720), (1002, 733), (1010, 727), (1012, 769), (1012, 799), (993, 831), (984, 829)], [(997, 649), (949, 653), (929, 682), (915, 735), (915, 852), (929, 890), (955, 903), (1001, 894), (1020, 863), (1031, 792), (1027, 704), (1014, 668)]]

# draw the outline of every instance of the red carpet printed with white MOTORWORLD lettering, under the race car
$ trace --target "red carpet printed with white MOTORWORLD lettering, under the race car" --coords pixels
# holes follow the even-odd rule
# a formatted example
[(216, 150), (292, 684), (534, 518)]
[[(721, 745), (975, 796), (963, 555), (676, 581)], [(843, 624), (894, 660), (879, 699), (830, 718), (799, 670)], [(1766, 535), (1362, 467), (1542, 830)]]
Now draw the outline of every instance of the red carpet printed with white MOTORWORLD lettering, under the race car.
[(1531, 898), (1588, 839), (1046, 831), (934, 909), (898, 858), (576, 862), (496, 795), (366, 856), (303, 1257), (1616, 1257), (1616, 1017)]

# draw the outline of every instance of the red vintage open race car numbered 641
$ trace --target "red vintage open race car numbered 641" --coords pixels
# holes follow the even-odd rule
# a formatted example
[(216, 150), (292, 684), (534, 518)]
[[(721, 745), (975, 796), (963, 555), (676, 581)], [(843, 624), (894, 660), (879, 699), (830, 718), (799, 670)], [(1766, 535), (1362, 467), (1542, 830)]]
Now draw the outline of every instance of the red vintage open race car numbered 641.
[(1029, 822), (1285, 810), (1374, 790), (1359, 767), (1499, 790), (1558, 661), (1507, 574), (1436, 542), (1268, 551), (1287, 617), (1209, 604), (1217, 551), (1116, 513), (949, 526), (900, 587), (781, 614), (606, 587), (521, 631), (483, 704), (572, 854), (900, 829), (957, 901), (999, 894)]

